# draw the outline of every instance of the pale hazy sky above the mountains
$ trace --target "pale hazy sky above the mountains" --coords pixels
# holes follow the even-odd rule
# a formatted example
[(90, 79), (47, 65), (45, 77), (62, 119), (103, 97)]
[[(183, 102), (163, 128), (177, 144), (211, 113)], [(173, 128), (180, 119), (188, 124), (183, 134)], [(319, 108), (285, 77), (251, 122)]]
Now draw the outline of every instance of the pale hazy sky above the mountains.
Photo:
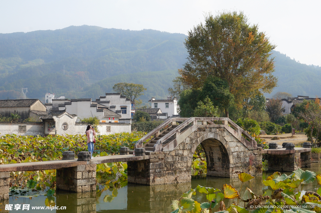
[(321, 1), (7, 1), (0, 0), (0, 33), (56, 30), (94, 25), (129, 30), (183, 33), (204, 21), (204, 14), (243, 11), (265, 31), (277, 51), (303, 64), (321, 66)]

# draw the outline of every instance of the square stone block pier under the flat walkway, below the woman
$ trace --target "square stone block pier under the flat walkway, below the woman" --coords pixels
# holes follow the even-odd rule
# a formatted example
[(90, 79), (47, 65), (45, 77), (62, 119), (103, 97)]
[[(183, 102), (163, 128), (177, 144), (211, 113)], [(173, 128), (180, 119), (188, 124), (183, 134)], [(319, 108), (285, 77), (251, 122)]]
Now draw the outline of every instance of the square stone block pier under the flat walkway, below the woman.
[(57, 191), (96, 191), (96, 164), (57, 169), (56, 174)]

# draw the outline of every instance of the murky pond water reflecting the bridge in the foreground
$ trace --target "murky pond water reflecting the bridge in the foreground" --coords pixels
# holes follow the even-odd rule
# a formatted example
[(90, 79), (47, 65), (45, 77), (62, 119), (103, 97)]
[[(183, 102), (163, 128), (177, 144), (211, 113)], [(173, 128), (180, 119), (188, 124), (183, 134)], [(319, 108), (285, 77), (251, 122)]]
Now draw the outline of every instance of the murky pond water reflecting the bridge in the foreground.
[[(312, 164), (307, 170), (321, 174), (321, 164)], [(257, 195), (263, 194), (267, 187), (262, 183), (272, 172), (264, 173), (263, 176), (256, 176), (254, 179), (246, 182), (242, 186), (242, 191), (246, 187), (250, 188)], [(290, 175), (291, 172), (286, 173)], [(22, 211), (23, 204), (30, 204), (27, 212), (102, 212), (102, 213), (168, 213), (171, 212), (170, 204), (172, 200), (178, 199), (184, 192), (191, 188), (196, 188), (197, 185), (213, 187), (221, 189), (223, 184), (230, 184), (237, 190), (241, 187), (241, 182), (238, 178), (220, 178), (220, 177), (200, 177), (192, 178), (191, 183), (177, 183), (166, 185), (138, 185), (128, 183), (126, 186), (115, 189), (110, 188), (103, 191), (101, 194), (86, 192), (86, 193), (67, 193), (58, 192), (55, 197), (47, 197), (39, 195), (31, 199), (26, 197), (10, 197), (9, 201), (0, 204), (0, 212), (19, 212)], [(309, 183), (304, 186), (305, 191), (315, 191), (317, 182)], [(196, 193), (193, 197), (198, 202), (205, 202), (205, 194)], [(65, 206), (65, 210), (58, 209), (32, 209), (32, 207), (45, 207), (48, 202), (54, 202), (56, 206)], [(225, 205), (230, 206), (231, 200), (226, 200)], [(5, 204), (13, 204), (13, 210), (4, 210)], [(15, 204), (21, 204), (21, 209), (15, 210)], [(25, 211), (25, 210), (23, 210)]]

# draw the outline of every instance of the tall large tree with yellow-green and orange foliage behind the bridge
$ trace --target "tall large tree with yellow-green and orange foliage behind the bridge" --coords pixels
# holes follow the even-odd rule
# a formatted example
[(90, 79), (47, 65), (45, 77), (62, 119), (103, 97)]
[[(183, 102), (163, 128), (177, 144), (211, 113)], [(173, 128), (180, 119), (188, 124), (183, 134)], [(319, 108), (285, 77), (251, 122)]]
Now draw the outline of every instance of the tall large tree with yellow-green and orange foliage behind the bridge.
[(271, 92), (276, 86), (271, 50), (275, 48), (257, 25), (249, 25), (242, 13), (208, 14), (185, 40), (188, 51), (184, 69), (179, 70), (193, 88), (202, 87), (209, 76), (226, 80), (236, 104), (256, 91)]

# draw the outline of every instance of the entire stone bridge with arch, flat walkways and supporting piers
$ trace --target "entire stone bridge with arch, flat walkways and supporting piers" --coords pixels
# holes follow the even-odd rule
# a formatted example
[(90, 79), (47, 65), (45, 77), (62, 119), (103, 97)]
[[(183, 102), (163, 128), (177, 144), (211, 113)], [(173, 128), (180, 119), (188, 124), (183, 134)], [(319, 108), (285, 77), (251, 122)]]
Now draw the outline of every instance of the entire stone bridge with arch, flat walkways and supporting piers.
[(209, 176), (237, 177), (242, 172), (261, 175), (262, 154), (268, 156), (269, 170), (293, 171), (311, 164), (311, 148), (262, 150), (251, 135), (228, 118), (171, 118), (137, 141), (135, 147), (145, 148), (145, 156), (129, 154), (95, 157), (90, 161), (69, 159), (2, 164), (0, 200), (9, 199), (12, 171), (56, 169), (56, 190), (72, 192), (96, 191), (96, 165), (121, 161), (128, 164), (129, 183), (190, 182), (192, 158), (199, 144), (206, 154)]

